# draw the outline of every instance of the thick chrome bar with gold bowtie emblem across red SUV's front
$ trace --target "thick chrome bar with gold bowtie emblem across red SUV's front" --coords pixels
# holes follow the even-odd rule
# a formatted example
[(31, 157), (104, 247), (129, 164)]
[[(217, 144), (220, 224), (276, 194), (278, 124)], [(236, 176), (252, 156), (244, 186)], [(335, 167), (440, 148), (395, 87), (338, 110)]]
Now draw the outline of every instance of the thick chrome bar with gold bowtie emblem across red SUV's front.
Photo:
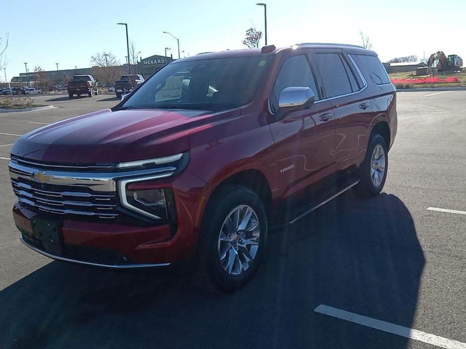
[(115, 192), (116, 181), (125, 177), (140, 177), (154, 175), (155, 173), (168, 173), (173, 175), (174, 166), (148, 168), (141, 170), (128, 170), (122, 172), (65, 172), (55, 170), (41, 170), (38, 168), (20, 165), (10, 161), (10, 177), (14, 180), (23, 178), (37, 183), (54, 184), (60, 186), (87, 187), (93, 191)]

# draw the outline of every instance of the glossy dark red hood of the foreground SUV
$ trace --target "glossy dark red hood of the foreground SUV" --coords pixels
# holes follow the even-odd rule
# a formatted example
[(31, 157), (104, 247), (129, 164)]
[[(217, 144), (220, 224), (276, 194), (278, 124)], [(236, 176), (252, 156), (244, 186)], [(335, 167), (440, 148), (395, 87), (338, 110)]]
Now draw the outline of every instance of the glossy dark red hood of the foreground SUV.
[(26, 133), (11, 153), (63, 163), (113, 163), (173, 155), (189, 149), (188, 133), (207, 123), (210, 113), (105, 109)]

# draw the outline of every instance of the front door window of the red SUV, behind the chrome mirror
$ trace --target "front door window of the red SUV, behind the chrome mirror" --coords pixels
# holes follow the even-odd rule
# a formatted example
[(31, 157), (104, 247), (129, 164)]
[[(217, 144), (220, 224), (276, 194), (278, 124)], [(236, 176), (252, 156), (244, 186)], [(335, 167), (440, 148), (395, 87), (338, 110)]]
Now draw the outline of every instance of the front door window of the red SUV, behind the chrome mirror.
[(291, 86), (308, 87), (314, 91), (315, 100), (319, 99), (314, 75), (305, 55), (290, 57), (283, 63), (272, 93), (272, 105), (274, 109), (278, 110), (280, 92)]

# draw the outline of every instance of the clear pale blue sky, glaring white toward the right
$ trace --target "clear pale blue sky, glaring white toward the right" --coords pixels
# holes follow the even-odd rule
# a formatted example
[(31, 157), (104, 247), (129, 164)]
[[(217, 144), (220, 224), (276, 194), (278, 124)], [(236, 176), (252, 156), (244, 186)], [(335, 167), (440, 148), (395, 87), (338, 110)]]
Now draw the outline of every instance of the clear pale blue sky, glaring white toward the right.
[[(164, 55), (176, 41), (183, 55), (243, 48), (246, 29), (263, 30), (263, 8), (250, 0), (49, 1), (0, 0), (0, 36), (10, 34), (7, 79), (40, 65), (45, 70), (89, 67), (96, 52), (126, 55), (124, 26), (142, 57)], [(442, 50), (466, 62), (466, 0), (267, 0), (268, 41), (361, 44), (366, 33), (382, 61)], [(4, 72), (0, 74), (4, 80)]]

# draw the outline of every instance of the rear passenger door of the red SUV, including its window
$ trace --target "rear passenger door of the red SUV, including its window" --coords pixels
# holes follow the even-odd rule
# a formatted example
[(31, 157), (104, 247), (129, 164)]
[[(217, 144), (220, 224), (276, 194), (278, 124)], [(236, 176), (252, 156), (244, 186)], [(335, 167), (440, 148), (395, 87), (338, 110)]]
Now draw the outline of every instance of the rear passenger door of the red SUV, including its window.
[(313, 61), (336, 119), (336, 169), (359, 165), (364, 159), (367, 130), (374, 116), (367, 82), (341, 49), (316, 51)]

